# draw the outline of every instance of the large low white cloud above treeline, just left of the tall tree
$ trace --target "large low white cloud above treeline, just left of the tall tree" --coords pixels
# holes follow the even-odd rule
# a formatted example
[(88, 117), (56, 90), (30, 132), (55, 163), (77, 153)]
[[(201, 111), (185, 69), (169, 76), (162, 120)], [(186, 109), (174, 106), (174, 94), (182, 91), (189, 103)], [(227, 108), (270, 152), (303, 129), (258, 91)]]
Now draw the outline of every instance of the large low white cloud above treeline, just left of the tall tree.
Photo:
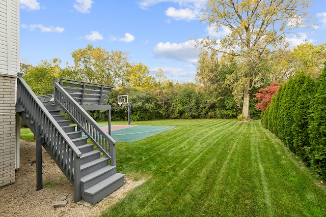
[(160, 42), (154, 47), (154, 54), (156, 57), (197, 63), (198, 51), (195, 50), (195, 44), (195, 41), (186, 41), (180, 44)]

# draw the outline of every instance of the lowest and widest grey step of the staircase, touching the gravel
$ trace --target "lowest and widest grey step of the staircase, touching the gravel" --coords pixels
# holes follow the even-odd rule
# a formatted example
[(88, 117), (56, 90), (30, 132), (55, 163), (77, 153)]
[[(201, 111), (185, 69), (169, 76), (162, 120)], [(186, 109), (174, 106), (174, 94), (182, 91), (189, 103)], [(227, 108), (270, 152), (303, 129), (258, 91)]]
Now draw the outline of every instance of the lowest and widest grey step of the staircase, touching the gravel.
[(116, 173), (103, 181), (93, 185), (91, 188), (82, 191), (82, 197), (86, 202), (95, 204), (107, 195), (119, 189), (124, 184), (125, 174)]

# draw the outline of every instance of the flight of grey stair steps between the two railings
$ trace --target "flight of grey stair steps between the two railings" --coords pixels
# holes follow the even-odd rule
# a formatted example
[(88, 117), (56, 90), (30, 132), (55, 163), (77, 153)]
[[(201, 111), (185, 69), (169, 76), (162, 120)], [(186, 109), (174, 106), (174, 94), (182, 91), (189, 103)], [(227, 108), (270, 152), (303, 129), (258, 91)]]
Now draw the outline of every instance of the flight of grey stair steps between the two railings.
[(82, 198), (95, 204), (124, 184), (125, 174), (117, 173), (116, 166), (108, 165), (107, 158), (101, 158), (99, 150), (94, 150), (94, 144), (87, 143), (82, 131), (75, 126), (69, 126), (70, 120), (60, 115), (59, 106), (45, 105), (50, 114), (57, 120), (71, 141), (82, 152), (80, 157), (80, 183)]

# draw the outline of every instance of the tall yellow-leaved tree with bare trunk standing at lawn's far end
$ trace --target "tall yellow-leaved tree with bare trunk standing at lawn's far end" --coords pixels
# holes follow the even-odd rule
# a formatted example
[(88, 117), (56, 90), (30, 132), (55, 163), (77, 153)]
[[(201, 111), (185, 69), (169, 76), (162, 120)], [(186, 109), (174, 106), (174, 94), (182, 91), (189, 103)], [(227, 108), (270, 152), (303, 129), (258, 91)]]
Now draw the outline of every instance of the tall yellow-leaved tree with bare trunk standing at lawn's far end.
[[(308, 26), (310, 0), (209, 0), (201, 21), (207, 21), (221, 40), (210, 36), (203, 48), (215, 50), (226, 63), (236, 61), (232, 76), (235, 95), (242, 95), (242, 114), (249, 118), (250, 92), (269, 77), (268, 63), (284, 53), (286, 35)], [(231, 64), (226, 64), (230, 67)]]

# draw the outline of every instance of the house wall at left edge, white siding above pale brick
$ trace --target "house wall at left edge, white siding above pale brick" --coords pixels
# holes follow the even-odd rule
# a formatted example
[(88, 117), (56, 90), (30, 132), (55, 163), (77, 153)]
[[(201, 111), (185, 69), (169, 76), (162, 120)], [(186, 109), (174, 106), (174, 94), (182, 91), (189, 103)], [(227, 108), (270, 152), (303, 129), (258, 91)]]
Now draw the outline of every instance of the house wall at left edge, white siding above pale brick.
[(0, 0), (0, 187), (15, 182), (19, 167), (16, 78), (19, 72), (19, 1)]

